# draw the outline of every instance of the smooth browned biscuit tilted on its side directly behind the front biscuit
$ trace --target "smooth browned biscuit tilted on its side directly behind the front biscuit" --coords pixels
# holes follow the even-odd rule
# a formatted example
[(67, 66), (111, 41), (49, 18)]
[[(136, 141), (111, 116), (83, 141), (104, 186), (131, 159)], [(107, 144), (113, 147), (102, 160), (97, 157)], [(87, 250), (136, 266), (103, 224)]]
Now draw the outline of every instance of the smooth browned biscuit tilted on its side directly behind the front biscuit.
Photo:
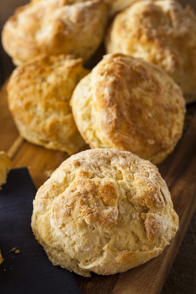
[(127, 150), (159, 164), (182, 135), (181, 89), (142, 59), (104, 56), (77, 85), (71, 104), (78, 130), (91, 148)]

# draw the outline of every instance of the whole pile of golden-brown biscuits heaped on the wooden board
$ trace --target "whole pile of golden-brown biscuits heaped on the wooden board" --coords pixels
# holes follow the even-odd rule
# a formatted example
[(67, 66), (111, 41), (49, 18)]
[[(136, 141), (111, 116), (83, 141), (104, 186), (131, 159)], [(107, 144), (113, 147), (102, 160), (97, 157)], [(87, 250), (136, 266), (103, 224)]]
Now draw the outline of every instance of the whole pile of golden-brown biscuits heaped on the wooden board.
[[(107, 54), (90, 71), (103, 40)], [(89, 277), (160, 254), (178, 216), (154, 165), (173, 151), (196, 100), (192, 8), (31, 0), (4, 25), (2, 44), (18, 66), (7, 92), (21, 136), (72, 155), (33, 203), (32, 230), (50, 261)]]

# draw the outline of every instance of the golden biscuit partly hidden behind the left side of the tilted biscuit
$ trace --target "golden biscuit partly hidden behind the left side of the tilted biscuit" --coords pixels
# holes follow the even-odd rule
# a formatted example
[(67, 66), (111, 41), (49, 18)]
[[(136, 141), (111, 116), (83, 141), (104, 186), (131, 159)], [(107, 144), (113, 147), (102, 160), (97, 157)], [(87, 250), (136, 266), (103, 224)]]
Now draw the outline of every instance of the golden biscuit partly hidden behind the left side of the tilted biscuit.
[(87, 73), (82, 59), (63, 54), (39, 56), (14, 70), (7, 86), (8, 104), (27, 141), (68, 154), (85, 144), (69, 103)]

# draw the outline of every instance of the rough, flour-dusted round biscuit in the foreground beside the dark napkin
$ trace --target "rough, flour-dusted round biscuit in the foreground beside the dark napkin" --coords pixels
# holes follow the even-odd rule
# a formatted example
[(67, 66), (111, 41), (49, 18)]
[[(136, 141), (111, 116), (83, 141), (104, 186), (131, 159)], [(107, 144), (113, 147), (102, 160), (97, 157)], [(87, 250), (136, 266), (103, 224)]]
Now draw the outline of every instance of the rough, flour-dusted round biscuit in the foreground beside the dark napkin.
[(158, 169), (112, 149), (73, 155), (33, 201), (31, 226), (53, 265), (90, 277), (137, 267), (160, 254), (178, 216)]

